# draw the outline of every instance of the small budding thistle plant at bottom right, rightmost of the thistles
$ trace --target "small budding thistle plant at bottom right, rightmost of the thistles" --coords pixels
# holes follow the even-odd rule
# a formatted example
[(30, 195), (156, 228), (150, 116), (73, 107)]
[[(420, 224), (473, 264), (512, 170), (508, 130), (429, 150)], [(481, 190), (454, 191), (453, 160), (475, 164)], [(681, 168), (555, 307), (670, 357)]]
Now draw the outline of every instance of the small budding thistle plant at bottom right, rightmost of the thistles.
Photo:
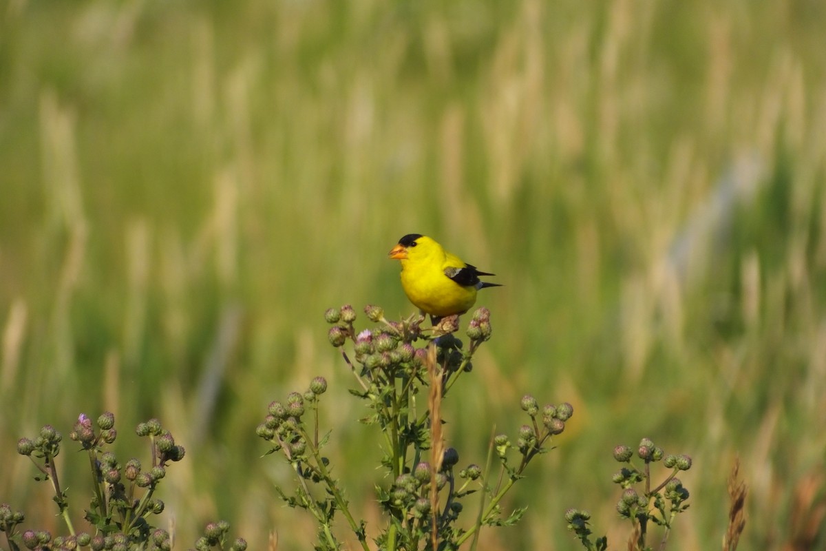
[[(643, 438), (637, 449), (637, 458), (642, 460), (641, 465), (633, 462), (634, 449), (626, 445), (619, 445), (614, 449), (614, 458), (627, 466), (615, 473), (613, 482), (623, 489), (616, 510), (620, 518), (627, 519), (632, 525), (628, 540), (628, 549), (632, 551), (649, 551), (653, 549), (649, 541), (652, 539), (654, 527), (661, 529), (657, 549), (666, 549), (668, 536), (676, 516), (688, 509), (686, 503), (689, 492), (683, 487), (677, 475), (681, 471), (691, 468), (691, 458), (685, 454), (665, 454), (653, 441)], [(661, 482), (652, 481), (653, 463), (662, 461), (663, 467), (670, 470)], [(567, 528), (571, 530), (582, 546), (589, 551), (603, 551), (608, 549), (608, 539), (605, 536), (591, 539), (590, 520), (588, 511), (568, 509), (565, 513)]]

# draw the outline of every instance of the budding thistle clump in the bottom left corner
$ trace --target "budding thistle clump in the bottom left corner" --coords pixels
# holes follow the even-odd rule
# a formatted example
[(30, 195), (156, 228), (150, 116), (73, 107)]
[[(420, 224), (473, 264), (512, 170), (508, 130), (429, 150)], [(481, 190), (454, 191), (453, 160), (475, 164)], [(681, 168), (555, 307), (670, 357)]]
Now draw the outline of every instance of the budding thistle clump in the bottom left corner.
[[(115, 442), (115, 416), (106, 412), (93, 421), (81, 414), (75, 420), (69, 439), (80, 444), (86, 452), (91, 470), (92, 499), (83, 518), (91, 526), (89, 531), (77, 531), (70, 515), (69, 496), (61, 487), (56, 461), (60, 454), (63, 435), (52, 425), (45, 425), (35, 438), (21, 438), (17, 452), (31, 459), (38, 471), (35, 480), (50, 482), (58, 507), (58, 515), (64, 520), (69, 535), (52, 535), (45, 530), (22, 530), (26, 520), (22, 511), (13, 511), (7, 504), (0, 505), (0, 530), (6, 534), (8, 549), (78, 549), (88, 547), (93, 551), (172, 549), (170, 534), (153, 525), (156, 515), (164, 511), (164, 501), (157, 496), (158, 488), (166, 476), (170, 463), (183, 459), (183, 446), (175, 443), (169, 430), (159, 420), (151, 419), (137, 426), (136, 433), (149, 439), (150, 461), (143, 465), (131, 458), (121, 464), (108, 449)], [(236, 539), (225, 547), (229, 525), (211, 523), (205, 534), (197, 540), (195, 549), (231, 549), (244, 551), (246, 543)]]

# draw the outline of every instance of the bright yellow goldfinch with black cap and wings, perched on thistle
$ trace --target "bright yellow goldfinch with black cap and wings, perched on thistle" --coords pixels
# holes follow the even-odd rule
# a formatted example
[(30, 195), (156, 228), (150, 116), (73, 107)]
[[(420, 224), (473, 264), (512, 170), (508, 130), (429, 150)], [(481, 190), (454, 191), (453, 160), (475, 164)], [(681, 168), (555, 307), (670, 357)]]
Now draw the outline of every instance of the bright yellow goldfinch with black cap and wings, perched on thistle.
[(476, 292), (498, 283), (479, 281), (494, 275), (477, 270), (426, 235), (408, 234), (389, 253), (401, 260), (401, 287), (415, 306), (434, 318), (463, 314), (476, 302)]

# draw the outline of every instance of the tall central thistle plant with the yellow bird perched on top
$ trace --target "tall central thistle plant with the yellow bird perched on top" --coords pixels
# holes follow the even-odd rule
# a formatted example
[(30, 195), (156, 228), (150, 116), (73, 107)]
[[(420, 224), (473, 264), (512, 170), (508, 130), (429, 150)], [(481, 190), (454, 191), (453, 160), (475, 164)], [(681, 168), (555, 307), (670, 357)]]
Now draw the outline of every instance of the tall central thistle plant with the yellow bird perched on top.
[[(319, 426), (324, 378), (313, 379), (305, 392), (273, 401), (258, 427), (257, 434), (271, 445), (268, 454), (281, 454), (295, 473), (295, 487), (278, 487), (278, 492), (287, 505), (315, 518), (315, 549), (322, 551), (342, 546), (333, 527), (335, 515), (344, 517), (364, 551), (475, 548), (483, 526), (513, 525), (525, 513), (525, 508), (503, 511), (501, 500), (529, 463), (548, 451), (553, 436), (563, 432), (573, 408), (567, 403), (540, 408), (534, 397), (526, 396), (520, 406), (529, 420), (517, 431), (515, 444), (508, 435), (496, 435), (484, 468), (461, 463), (458, 450), (444, 446), (441, 404), (458, 392), (457, 383), (472, 373), (473, 355), (491, 338), (490, 312), (480, 308), (472, 314), (466, 348), (453, 335), (458, 316), (423, 328), (424, 316), (387, 321), (377, 306), (364, 311), (377, 324), (373, 329), (356, 330), (356, 313), (349, 305), (330, 308), (325, 320), (332, 325), (330, 344), (339, 349), (356, 382), (350, 392), (368, 408), (360, 421), (376, 427), (382, 444), (378, 461), (385, 476), (376, 493), (384, 524), (368, 537), (367, 523), (354, 514), (332, 474), (324, 454), (330, 433), (322, 434)], [(463, 515), (465, 511), (472, 512)]]

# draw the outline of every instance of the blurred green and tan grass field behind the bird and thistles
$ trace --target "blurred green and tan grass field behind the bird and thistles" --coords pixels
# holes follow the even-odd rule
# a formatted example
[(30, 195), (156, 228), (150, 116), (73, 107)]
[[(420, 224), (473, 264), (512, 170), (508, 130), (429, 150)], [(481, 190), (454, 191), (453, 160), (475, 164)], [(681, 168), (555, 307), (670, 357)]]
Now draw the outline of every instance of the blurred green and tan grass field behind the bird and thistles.
[(62, 530), (17, 439), (107, 409), (137, 454), (157, 416), (178, 547), (222, 518), (310, 549), (254, 427), (321, 374), (374, 520), (322, 313), (409, 314), (386, 254), (418, 232), (506, 284), (444, 405), (462, 462), (527, 392), (576, 408), (481, 549), (577, 549), (570, 506), (622, 547), (610, 453), (643, 436), (694, 458), (669, 549), (719, 545), (736, 455), (742, 548), (823, 544), (824, 28), (813, 0), (0, 2), (0, 501)]

